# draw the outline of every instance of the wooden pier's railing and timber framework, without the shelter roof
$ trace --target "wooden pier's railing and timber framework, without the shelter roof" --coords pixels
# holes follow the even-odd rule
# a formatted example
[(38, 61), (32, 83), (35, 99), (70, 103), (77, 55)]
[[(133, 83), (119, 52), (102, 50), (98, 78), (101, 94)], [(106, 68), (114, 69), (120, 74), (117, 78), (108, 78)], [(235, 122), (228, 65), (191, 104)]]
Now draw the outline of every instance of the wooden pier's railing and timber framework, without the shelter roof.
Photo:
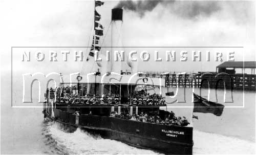
[(256, 75), (232, 74), (216, 72), (178, 73), (178, 72), (143, 72), (142, 77), (165, 79), (166, 87), (202, 87), (227, 90), (255, 91)]

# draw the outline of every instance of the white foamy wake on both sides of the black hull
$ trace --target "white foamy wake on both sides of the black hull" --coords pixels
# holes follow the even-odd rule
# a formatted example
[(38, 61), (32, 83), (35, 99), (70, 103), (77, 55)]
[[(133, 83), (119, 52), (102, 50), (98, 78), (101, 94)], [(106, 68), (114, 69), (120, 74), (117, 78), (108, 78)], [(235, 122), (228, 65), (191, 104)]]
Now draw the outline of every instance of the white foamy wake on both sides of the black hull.
[[(42, 135), (52, 153), (68, 154), (159, 154), (124, 143), (102, 139), (80, 128), (73, 132), (60, 123), (46, 121)], [(50, 153), (46, 151), (45, 153)], [(254, 154), (255, 143), (194, 130), (193, 154)]]

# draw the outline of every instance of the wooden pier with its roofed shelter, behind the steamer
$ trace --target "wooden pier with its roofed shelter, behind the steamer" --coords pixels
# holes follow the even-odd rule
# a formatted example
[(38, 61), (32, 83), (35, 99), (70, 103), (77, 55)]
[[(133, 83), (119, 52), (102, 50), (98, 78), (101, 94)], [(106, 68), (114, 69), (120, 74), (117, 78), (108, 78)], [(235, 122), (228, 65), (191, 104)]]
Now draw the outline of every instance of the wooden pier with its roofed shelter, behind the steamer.
[[(237, 70), (242, 74), (236, 74)], [(250, 69), (251, 74), (245, 74)], [(226, 61), (216, 67), (216, 72), (175, 73), (143, 72), (140, 76), (165, 79), (166, 87), (197, 87), (227, 90), (255, 91), (256, 61)]]

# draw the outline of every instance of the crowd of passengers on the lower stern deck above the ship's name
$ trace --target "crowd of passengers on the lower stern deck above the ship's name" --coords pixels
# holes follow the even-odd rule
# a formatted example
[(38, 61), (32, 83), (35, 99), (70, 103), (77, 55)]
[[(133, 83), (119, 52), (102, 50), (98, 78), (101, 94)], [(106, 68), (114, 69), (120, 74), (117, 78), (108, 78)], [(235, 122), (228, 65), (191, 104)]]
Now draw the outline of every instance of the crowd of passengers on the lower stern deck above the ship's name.
[(147, 123), (158, 123), (164, 125), (178, 125), (178, 126), (187, 126), (190, 124), (186, 117), (176, 117), (175, 113), (171, 111), (169, 115), (165, 116), (162, 120), (157, 114), (150, 115), (144, 114), (143, 112), (140, 115), (130, 115), (130, 114), (120, 114), (118, 115), (117, 112), (112, 112), (110, 117), (116, 117), (120, 119), (132, 120), (132, 121), (139, 121), (139, 122), (147, 122)]

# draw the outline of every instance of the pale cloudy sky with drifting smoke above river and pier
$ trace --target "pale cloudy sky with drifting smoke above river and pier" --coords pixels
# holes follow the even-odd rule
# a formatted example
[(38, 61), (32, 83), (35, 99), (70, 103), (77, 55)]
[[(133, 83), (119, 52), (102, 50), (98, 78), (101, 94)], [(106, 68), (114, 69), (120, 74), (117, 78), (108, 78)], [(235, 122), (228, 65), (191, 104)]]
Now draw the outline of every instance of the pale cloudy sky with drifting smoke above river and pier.
[[(101, 14), (105, 39), (111, 46), (111, 9), (123, 7), (122, 44), (125, 51), (146, 50), (152, 58), (139, 60), (141, 71), (196, 72), (215, 71), (221, 62), (214, 53), (235, 52), (235, 60), (255, 61), (255, 2), (253, 1), (103, 1)], [(86, 47), (90, 45), (94, 1), (1, 1), (1, 70), (10, 72), (11, 47)], [(102, 41), (102, 40), (101, 40)], [(243, 47), (243, 48), (131, 48), (131, 47)], [(13, 71), (24, 73), (81, 72), (91, 64), (74, 61), (22, 62), (28, 49), (13, 50)], [(49, 53), (48, 48), (39, 50)], [(60, 52), (60, 49), (53, 49)], [(61, 49), (62, 50), (62, 49)], [(73, 55), (74, 49), (68, 49)], [(78, 49), (79, 50), (79, 49)], [(85, 50), (86, 49), (80, 49)], [(103, 53), (104, 50), (102, 49)], [(162, 62), (154, 61), (159, 51)], [(166, 62), (165, 50), (175, 50), (176, 62)], [(180, 51), (188, 51), (188, 61), (181, 62)], [(191, 60), (191, 51), (202, 52), (202, 62)], [(206, 62), (206, 51), (211, 60)], [(33, 52), (33, 50), (32, 50)], [(33, 53), (32, 53), (33, 54)], [(48, 57), (48, 56), (46, 56)], [(58, 57), (62, 59), (62, 55)], [(73, 57), (70, 57), (73, 59)], [(226, 61), (226, 58), (224, 58)], [(93, 69), (96, 70), (96, 69)]]

